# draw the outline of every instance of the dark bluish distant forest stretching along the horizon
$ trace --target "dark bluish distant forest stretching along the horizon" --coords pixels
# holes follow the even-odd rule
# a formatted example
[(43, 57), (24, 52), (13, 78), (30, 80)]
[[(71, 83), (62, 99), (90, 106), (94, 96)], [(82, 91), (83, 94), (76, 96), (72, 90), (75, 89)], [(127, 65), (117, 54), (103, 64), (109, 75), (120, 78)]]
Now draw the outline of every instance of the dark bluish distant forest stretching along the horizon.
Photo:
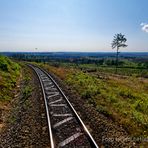
[[(99, 66), (116, 64), (116, 54), (113, 52), (1, 52), (1, 54), (29, 62), (64, 62)], [(121, 67), (148, 68), (148, 52), (122, 52), (119, 58)]]

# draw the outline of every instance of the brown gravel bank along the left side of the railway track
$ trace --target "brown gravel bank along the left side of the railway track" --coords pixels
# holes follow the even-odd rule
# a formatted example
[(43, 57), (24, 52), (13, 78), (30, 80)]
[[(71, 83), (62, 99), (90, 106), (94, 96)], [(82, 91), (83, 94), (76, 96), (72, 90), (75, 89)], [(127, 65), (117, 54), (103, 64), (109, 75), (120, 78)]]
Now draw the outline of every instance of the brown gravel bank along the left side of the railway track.
[[(46, 115), (40, 86), (35, 73), (24, 67), (23, 76), (31, 79), (28, 84), (21, 80), (17, 87), (14, 99), (12, 99), (7, 117), (6, 126), (0, 137), (1, 148), (46, 148), (49, 147)], [(23, 97), (23, 89), (26, 85), (33, 88), (31, 95)], [(7, 116), (7, 115), (4, 115)]]

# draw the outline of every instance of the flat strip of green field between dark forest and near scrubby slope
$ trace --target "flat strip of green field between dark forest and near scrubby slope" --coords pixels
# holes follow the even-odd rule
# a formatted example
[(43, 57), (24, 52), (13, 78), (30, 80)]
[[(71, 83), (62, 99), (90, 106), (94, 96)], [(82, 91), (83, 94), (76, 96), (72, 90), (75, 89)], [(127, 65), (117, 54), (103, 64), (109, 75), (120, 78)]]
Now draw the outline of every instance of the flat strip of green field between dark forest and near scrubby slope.
[[(76, 68), (88, 72), (102, 72), (107, 74), (116, 74), (116, 66), (109, 64), (110, 59), (104, 59), (102, 64), (82, 64), (74, 62), (49, 62), (48, 64), (54, 67), (63, 68)], [(119, 67), (117, 68), (118, 75), (124, 76), (134, 76), (134, 77), (145, 77), (148, 78), (148, 67), (146, 63), (134, 62), (126, 59), (122, 59), (119, 62)]]

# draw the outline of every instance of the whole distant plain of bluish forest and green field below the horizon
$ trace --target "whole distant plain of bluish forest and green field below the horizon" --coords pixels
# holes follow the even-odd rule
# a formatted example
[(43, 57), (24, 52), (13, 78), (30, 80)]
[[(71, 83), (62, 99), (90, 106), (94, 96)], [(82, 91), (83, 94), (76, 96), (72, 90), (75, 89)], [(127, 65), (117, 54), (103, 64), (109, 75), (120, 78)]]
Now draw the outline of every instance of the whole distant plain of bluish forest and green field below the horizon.
[[(2, 53), (17, 60), (50, 63), (53, 66), (79, 68), (83, 71), (99, 71), (115, 74), (115, 53), (113, 52), (47, 52), (47, 53)], [(148, 77), (148, 53), (120, 53), (118, 74)]]

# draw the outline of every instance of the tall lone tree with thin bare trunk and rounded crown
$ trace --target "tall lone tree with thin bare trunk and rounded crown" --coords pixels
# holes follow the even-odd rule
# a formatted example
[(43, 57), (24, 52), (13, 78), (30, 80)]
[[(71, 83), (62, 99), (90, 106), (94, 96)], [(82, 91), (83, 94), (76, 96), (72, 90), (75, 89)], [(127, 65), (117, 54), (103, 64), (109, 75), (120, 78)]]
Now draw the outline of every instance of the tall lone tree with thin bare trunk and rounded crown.
[(120, 47), (127, 47), (125, 44), (127, 39), (125, 38), (125, 35), (118, 33), (115, 34), (113, 42), (112, 42), (112, 49), (117, 48), (117, 53), (116, 53), (116, 73), (117, 73), (117, 67), (118, 67), (118, 56), (119, 56), (119, 48)]

